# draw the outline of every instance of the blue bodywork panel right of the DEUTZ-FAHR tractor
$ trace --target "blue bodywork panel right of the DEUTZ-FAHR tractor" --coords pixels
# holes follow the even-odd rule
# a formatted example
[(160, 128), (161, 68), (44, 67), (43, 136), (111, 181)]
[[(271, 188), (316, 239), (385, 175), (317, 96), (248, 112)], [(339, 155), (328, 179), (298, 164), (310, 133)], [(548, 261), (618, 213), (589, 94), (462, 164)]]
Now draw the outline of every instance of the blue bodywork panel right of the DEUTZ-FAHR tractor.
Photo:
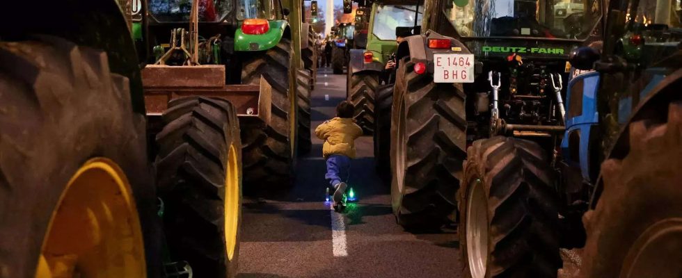
[[(588, 72), (580, 74), (569, 81), (566, 90), (566, 111), (571, 111), (571, 91), (573, 91), (573, 86), (576, 85), (582, 85), (582, 113), (573, 117), (569, 116), (571, 113), (566, 113), (566, 131), (561, 142), (561, 149), (565, 161), (572, 167), (580, 167), (582, 178), (589, 181), (590, 132), (592, 131), (592, 126), (596, 126), (599, 122), (596, 100), (596, 92), (599, 87), (599, 73)], [(578, 132), (580, 136), (580, 145), (569, 146), (569, 136), (574, 132)], [(578, 152), (571, 152), (570, 147), (578, 147)], [(571, 157), (571, 153), (577, 153), (579, 157)]]

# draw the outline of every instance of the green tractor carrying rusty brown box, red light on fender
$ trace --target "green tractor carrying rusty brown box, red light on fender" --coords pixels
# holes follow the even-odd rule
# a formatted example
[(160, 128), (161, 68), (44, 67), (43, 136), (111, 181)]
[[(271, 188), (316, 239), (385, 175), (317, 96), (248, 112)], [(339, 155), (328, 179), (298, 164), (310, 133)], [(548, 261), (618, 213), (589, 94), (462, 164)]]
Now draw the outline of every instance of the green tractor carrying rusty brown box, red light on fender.
[[(310, 73), (298, 51), (300, 1), (199, 1), (195, 31), (180, 29), (191, 19), (186, 2), (146, 3), (145, 49), (154, 54), (143, 69), (150, 121), (158, 122), (153, 116), (164, 113), (171, 99), (197, 95), (196, 88), (228, 99), (238, 106), (246, 184), (290, 184), (297, 147), (310, 149)], [(191, 45), (190, 35), (198, 45)], [(198, 49), (199, 66), (182, 65), (182, 49), (191, 48)]]

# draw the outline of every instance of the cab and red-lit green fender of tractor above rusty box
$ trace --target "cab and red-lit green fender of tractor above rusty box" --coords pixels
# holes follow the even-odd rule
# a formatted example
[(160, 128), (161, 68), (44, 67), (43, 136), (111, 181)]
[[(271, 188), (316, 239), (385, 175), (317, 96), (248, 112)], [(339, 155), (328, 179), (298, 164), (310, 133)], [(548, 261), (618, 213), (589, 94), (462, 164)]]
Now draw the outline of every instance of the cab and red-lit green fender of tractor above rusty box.
[[(281, 1), (197, 0), (198, 63), (228, 65), (229, 83), (239, 83), (239, 51), (265, 51), (288, 31), (289, 10)], [(157, 63), (170, 48), (170, 41), (189, 38), (193, 1), (148, 0), (148, 63)], [(187, 29), (186, 29), (187, 28)], [(180, 33), (178, 33), (180, 32)], [(177, 42), (176, 44), (180, 44)], [(190, 47), (191, 43), (187, 42)], [(169, 60), (182, 63), (182, 57)]]

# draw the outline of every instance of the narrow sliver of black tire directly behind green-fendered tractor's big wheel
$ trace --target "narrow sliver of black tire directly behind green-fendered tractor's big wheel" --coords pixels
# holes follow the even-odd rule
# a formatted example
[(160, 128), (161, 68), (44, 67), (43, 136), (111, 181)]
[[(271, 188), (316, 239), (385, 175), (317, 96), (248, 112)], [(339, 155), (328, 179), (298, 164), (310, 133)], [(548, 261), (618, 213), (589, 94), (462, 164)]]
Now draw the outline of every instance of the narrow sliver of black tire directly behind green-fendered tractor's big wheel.
[(308, 154), (312, 147), (310, 140), (310, 73), (299, 70), (296, 75), (296, 99), (299, 103), (299, 154)]

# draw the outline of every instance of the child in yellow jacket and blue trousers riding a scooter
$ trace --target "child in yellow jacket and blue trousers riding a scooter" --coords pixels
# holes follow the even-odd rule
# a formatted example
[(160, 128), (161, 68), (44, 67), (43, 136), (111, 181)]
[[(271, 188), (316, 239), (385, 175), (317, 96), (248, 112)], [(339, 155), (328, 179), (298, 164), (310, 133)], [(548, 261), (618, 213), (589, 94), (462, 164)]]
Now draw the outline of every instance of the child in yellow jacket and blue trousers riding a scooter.
[(322, 157), (327, 161), (324, 177), (335, 188), (335, 203), (341, 202), (346, 192), (351, 158), (355, 158), (355, 140), (363, 135), (363, 129), (353, 120), (353, 110), (353, 104), (341, 101), (336, 106), (336, 117), (315, 129), (317, 138), (324, 140)]

